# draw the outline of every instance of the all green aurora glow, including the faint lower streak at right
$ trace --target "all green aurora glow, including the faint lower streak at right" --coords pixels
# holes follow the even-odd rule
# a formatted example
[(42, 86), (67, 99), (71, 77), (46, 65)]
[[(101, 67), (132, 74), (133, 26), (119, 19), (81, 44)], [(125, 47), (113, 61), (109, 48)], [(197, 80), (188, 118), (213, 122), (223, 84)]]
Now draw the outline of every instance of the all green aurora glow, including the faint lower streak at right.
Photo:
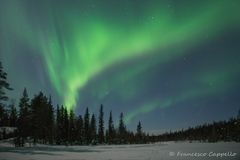
[[(68, 109), (76, 107), (81, 89), (89, 80), (118, 62), (159, 54), (161, 63), (165, 63), (183, 56), (185, 52), (169, 55), (155, 51), (175, 46), (188, 49), (202, 43), (206, 36), (214, 37), (225, 28), (240, 24), (237, 14), (239, 2), (227, 0), (202, 2), (192, 8), (182, 7), (176, 13), (158, 2), (146, 7), (138, 18), (131, 13), (124, 18), (113, 17), (111, 13), (107, 16), (104, 14), (106, 11), (98, 8), (89, 9), (89, 14), (85, 15), (67, 7), (58, 10), (50, 3), (46, 6), (47, 29), (28, 19), (30, 15), (20, 1), (9, 2), (9, 8), (4, 11), (4, 16), (10, 19), (6, 26), (12, 34), (43, 55), (51, 83)], [(16, 29), (18, 24), (21, 25)], [(130, 70), (123, 76), (131, 77), (133, 72), (142, 69)], [(202, 82), (207, 83), (217, 76), (201, 75), (204, 77)], [(217, 87), (221, 88), (221, 84)], [(217, 92), (213, 88), (189, 90), (184, 96), (143, 104), (130, 112), (126, 120), (129, 123), (139, 114), (211, 94), (213, 90)]]

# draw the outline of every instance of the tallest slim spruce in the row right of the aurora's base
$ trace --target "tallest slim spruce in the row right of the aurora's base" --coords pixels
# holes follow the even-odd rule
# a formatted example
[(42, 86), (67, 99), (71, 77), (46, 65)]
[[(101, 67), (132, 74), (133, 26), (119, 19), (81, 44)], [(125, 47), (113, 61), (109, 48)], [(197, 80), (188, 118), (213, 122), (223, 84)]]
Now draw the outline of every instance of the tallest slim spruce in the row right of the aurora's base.
[(101, 104), (99, 110), (99, 126), (98, 126), (98, 142), (100, 144), (104, 143), (104, 112), (103, 112), (103, 105)]

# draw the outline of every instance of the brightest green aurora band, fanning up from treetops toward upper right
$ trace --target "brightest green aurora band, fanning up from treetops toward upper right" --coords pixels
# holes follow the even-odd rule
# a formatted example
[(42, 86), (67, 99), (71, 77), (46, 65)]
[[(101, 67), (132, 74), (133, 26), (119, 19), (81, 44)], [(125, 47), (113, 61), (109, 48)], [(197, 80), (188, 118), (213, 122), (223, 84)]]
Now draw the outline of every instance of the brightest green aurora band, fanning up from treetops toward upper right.
[[(219, 25), (224, 27), (219, 19), (224, 9), (221, 7), (204, 6), (180, 22), (170, 17), (168, 11), (151, 14), (148, 17), (153, 19), (143, 19), (140, 26), (104, 22), (98, 17), (78, 20), (77, 15), (69, 15), (66, 19), (70, 19), (67, 20), (70, 40), (60, 39), (56, 33), (48, 39), (51, 45), (46, 45), (45, 40), (42, 45), (49, 76), (59, 94), (65, 91), (65, 105), (72, 108), (88, 80), (115, 62), (181, 41), (185, 41), (181, 45), (186, 46), (191, 41), (200, 41), (207, 30), (214, 34)], [(174, 56), (180, 55), (172, 58)], [(162, 57), (164, 59), (164, 55)]]

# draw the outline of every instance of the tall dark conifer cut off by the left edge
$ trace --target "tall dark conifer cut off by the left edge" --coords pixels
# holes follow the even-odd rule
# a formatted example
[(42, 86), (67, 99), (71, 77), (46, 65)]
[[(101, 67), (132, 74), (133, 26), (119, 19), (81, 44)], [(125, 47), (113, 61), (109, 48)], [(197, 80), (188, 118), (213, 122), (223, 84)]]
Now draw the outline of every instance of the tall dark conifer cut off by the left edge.
[(6, 90), (12, 90), (12, 88), (7, 82), (7, 73), (0, 62), (0, 126), (6, 125), (7, 111), (4, 109), (4, 102), (8, 100)]

